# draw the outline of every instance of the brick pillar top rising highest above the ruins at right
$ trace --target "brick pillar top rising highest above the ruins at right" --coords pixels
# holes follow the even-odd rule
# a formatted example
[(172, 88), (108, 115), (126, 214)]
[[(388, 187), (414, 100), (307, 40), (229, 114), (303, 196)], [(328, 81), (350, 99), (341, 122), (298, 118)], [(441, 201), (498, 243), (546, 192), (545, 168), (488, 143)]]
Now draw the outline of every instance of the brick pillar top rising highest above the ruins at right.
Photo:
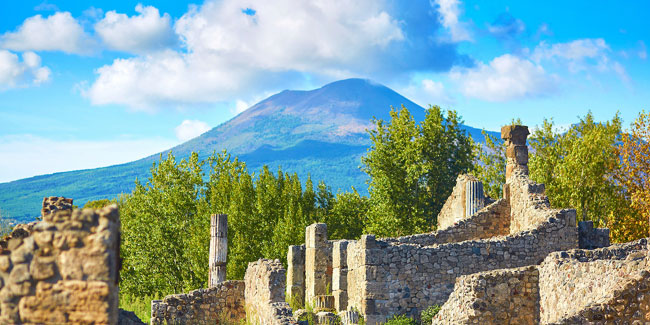
[(501, 138), (506, 141), (506, 181), (514, 172), (528, 175), (528, 147), (530, 132), (523, 125), (506, 125), (501, 128)]

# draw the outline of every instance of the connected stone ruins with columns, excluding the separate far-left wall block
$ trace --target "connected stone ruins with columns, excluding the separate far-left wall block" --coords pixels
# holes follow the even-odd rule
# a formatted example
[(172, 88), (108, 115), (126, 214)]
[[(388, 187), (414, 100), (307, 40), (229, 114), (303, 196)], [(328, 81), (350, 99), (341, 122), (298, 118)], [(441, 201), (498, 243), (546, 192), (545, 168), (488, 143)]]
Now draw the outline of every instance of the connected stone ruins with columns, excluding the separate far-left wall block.
[[(221, 323), (217, 315), (305, 323), (298, 318), (306, 311), (292, 311), (287, 301), (312, 306), (316, 324), (337, 314), (343, 324), (381, 324), (397, 314), (418, 319), (433, 305), (442, 306), (433, 324), (650, 322), (648, 239), (610, 245), (608, 229), (577, 223), (574, 209), (552, 209), (544, 185), (528, 177), (528, 134), (525, 126), (501, 130), (503, 198), (486, 197), (471, 175), (458, 176), (438, 231), (332, 241), (326, 224), (313, 224), (305, 244), (288, 248), (286, 270), (260, 259), (244, 281), (225, 282), (238, 288), (230, 295), (222, 283), (152, 302), (152, 323)], [(213, 253), (226, 251), (217, 233), (211, 279), (225, 263)]]

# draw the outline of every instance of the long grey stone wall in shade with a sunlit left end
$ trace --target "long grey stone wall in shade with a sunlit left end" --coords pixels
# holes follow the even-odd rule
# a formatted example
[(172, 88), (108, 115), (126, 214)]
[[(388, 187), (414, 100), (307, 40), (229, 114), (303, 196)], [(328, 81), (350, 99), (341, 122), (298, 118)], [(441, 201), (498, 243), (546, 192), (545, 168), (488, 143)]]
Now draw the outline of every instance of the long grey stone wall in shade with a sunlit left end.
[(549, 213), (536, 229), (487, 240), (422, 247), (362, 236), (348, 245), (348, 304), (368, 324), (393, 314), (419, 317), (447, 300), (460, 275), (535, 265), (551, 252), (576, 248), (575, 210)]

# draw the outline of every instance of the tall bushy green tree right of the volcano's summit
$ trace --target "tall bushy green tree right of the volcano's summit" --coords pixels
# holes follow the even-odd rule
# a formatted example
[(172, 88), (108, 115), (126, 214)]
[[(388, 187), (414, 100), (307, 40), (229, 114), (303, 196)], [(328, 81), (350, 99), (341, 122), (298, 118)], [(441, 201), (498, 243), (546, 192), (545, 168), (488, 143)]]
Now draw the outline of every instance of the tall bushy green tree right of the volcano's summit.
[(365, 231), (379, 236), (426, 232), (451, 194), (456, 176), (473, 165), (473, 142), (455, 111), (432, 106), (416, 124), (406, 107), (391, 120), (374, 120), (371, 148), (362, 158), (370, 176)]

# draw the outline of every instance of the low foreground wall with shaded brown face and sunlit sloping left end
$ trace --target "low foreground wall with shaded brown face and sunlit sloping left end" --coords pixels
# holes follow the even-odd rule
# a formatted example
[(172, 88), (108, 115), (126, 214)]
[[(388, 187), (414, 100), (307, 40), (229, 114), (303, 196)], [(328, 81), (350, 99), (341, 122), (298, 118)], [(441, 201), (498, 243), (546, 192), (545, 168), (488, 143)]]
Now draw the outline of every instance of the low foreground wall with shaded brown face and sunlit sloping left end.
[(461, 276), (433, 324), (539, 324), (535, 266)]

